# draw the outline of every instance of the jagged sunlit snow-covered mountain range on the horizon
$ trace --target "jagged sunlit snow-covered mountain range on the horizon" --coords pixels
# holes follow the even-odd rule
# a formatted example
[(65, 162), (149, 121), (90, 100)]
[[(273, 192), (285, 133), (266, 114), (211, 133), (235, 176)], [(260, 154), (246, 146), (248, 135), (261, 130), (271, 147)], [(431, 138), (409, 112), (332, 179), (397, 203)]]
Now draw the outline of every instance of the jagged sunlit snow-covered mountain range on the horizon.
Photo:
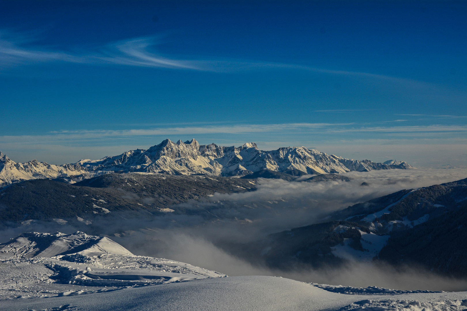
[(282, 147), (273, 151), (259, 150), (255, 143), (240, 147), (199, 145), (198, 141), (177, 143), (165, 139), (148, 150), (136, 149), (99, 160), (83, 159), (73, 164), (50, 165), (31, 160), (15, 163), (0, 152), (0, 187), (14, 182), (39, 178), (68, 178), (70, 182), (105, 173), (164, 173), (173, 175), (206, 174), (244, 176), (263, 169), (288, 173), (299, 170), (308, 174), (367, 172), (381, 169), (407, 169), (407, 162), (389, 160), (344, 159), (305, 147)]

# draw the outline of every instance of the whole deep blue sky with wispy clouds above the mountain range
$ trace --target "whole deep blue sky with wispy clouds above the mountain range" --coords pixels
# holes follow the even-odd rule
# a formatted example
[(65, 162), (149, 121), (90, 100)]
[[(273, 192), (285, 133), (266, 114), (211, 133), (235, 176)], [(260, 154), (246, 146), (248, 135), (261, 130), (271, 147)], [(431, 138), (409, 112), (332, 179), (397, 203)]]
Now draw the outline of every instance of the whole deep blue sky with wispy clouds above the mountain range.
[(165, 138), (467, 165), (465, 1), (0, 1), (0, 150)]

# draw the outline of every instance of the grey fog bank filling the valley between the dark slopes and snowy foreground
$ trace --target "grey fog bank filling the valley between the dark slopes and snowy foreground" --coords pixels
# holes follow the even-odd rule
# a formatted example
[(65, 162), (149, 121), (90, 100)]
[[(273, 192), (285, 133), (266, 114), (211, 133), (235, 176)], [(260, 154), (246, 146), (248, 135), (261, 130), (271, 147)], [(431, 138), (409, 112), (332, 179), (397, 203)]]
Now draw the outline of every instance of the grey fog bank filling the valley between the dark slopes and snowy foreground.
[[(248, 245), (252, 247), (251, 243), (268, 239), (270, 234), (325, 222), (333, 213), (356, 203), (403, 189), (460, 180), (467, 176), (467, 170), (380, 170), (347, 172), (345, 175), (350, 181), (300, 181), (311, 175), (294, 181), (250, 180), (256, 187), (253, 191), (216, 192), (166, 207), (172, 211), (182, 209), (184, 214), (112, 211), (92, 219), (89, 224), (82, 221), (64, 221), (61, 224), (60, 221), (26, 221), (17, 228), (4, 228), (1, 231), (3, 241), (0, 242), (7, 242), (25, 231), (71, 234), (79, 230), (107, 236), (135, 255), (170, 258), (229, 276), (283, 276), (308, 283), (399, 290), (446, 291), (463, 290), (467, 286), (462, 279), (413, 265), (393, 266), (384, 262), (350, 260), (318, 268), (307, 264), (277, 268), (271, 267), (257, 254), (239, 251)], [(128, 175), (127, 180), (130, 178)], [(137, 197), (136, 192), (133, 198)], [(151, 201), (151, 198), (145, 198)], [(106, 200), (102, 197), (102, 201)], [(105, 203), (98, 204), (106, 206)]]

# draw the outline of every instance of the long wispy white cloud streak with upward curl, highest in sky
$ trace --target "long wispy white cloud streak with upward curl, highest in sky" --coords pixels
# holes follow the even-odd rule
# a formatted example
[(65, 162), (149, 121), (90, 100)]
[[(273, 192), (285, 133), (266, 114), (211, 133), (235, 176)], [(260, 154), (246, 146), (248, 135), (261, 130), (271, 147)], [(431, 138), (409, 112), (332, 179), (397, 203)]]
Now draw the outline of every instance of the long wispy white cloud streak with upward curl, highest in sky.
[(23, 48), (18, 44), (20, 40), (4, 39), (5, 37), (15, 36), (19, 35), (12, 35), (5, 30), (0, 31), (0, 69), (1, 66), (9, 67), (20, 63), (25, 64), (53, 61), (83, 64), (118, 64), (149, 68), (188, 69), (210, 72), (238, 72), (252, 69), (298, 69), (339, 76), (369, 77), (418, 87), (431, 86), (429, 83), (422, 83), (392, 76), (357, 71), (320, 69), (296, 64), (239, 60), (171, 59), (149, 50), (149, 47), (158, 44), (155, 37), (142, 37), (119, 41), (108, 44), (105, 49), (102, 49), (102, 51), (98, 53), (75, 55), (63, 51), (44, 51), (41, 50), (41, 48)]

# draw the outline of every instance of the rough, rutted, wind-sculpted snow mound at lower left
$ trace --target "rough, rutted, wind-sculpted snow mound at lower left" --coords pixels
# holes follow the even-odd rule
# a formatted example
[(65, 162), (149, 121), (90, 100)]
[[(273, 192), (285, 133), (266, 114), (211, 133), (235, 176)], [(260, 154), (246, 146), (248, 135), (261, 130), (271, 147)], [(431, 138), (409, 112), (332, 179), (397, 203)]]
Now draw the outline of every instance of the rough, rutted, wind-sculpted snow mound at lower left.
[(53, 297), (106, 287), (145, 286), (224, 274), (187, 263), (134, 256), (107, 237), (29, 232), (0, 244), (0, 298)]

